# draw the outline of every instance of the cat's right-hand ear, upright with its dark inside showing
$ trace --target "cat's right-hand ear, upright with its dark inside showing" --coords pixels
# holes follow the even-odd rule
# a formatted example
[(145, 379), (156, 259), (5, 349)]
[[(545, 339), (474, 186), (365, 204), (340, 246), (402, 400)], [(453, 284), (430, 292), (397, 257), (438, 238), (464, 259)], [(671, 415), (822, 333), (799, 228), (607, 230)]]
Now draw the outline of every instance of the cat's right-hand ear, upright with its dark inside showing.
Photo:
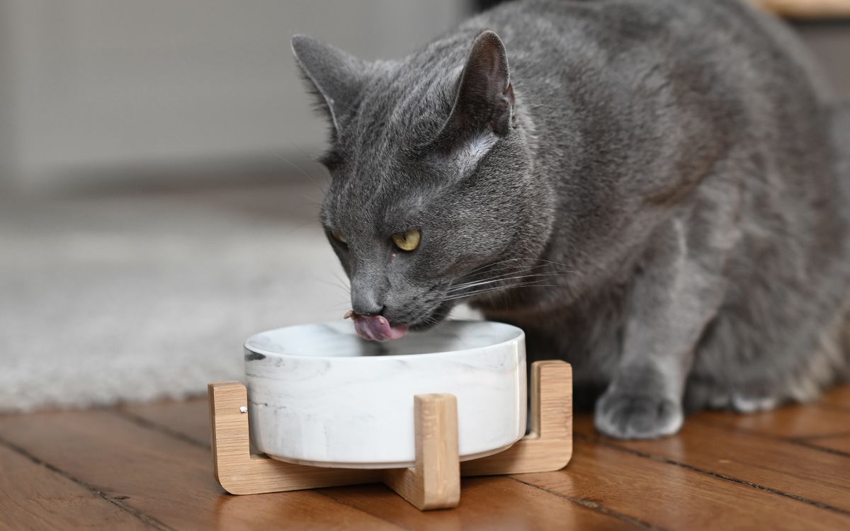
[(504, 136), (511, 127), (513, 105), (505, 45), (496, 32), (483, 31), (469, 51), (455, 104), (434, 144), (450, 149), (481, 133)]

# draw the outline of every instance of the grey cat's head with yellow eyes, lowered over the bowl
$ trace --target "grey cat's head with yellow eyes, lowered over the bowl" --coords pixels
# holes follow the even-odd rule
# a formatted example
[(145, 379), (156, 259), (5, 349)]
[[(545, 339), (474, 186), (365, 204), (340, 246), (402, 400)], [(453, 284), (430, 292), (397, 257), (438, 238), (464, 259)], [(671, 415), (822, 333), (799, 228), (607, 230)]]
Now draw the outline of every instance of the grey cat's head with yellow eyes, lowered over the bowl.
[(303, 36), (292, 49), (331, 125), (321, 221), (354, 312), (422, 329), (473, 290), (495, 300), (504, 282), (473, 283), (513, 277), (549, 230), (501, 39), (392, 62)]

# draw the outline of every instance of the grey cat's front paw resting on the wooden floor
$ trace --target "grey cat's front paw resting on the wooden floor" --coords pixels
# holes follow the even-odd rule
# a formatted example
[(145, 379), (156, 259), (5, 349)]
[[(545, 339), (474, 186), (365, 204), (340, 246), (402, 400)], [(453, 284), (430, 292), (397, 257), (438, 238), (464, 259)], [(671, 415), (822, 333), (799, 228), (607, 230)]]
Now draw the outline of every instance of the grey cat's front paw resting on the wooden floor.
[(615, 438), (659, 438), (682, 427), (682, 404), (671, 398), (608, 391), (596, 403), (594, 424)]

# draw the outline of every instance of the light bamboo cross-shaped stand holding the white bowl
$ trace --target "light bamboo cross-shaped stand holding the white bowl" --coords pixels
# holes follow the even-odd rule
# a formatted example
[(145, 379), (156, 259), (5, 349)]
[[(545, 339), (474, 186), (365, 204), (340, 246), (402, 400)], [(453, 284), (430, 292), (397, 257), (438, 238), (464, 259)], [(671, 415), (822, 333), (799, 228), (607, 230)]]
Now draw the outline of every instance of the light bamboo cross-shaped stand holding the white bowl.
[(461, 476), (550, 472), (570, 462), (572, 370), (563, 361), (531, 364), (531, 431), (496, 455), (459, 462), (454, 395), (414, 398), (416, 466), (361, 470), (306, 466), (252, 455), (246, 388), (238, 381), (209, 384), (212, 466), (230, 494), (260, 494), (357, 483), (385, 483), (422, 511), (456, 507)]

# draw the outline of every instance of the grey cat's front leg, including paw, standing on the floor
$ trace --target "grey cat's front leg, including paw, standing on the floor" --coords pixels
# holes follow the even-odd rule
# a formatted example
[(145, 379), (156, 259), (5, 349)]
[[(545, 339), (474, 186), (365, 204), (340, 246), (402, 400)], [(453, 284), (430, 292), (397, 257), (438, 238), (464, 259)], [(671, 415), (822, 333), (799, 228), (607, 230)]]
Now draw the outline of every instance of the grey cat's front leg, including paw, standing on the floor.
[(717, 315), (730, 226), (673, 219), (653, 238), (626, 303), (621, 359), (596, 404), (595, 424), (616, 438), (657, 438), (683, 422), (694, 348)]

